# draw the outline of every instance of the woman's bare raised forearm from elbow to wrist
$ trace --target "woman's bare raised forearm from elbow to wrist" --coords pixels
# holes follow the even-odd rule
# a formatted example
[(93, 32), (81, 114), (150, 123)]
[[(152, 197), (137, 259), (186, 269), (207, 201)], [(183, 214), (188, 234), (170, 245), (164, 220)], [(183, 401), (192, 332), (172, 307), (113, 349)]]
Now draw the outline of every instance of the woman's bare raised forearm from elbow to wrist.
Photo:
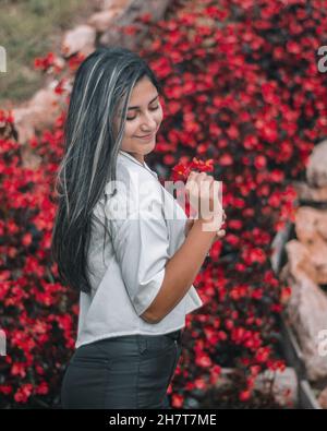
[(196, 219), (183, 244), (166, 264), (161, 288), (141, 315), (150, 323), (158, 323), (186, 295), (211, 247), (216, 230), (205, 231), (208, 220)]

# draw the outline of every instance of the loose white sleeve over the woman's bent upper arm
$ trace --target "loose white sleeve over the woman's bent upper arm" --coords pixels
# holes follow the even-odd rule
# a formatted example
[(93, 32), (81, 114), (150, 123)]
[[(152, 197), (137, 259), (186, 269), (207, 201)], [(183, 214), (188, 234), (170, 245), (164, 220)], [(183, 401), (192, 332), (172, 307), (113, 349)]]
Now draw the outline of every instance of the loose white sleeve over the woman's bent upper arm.
[(167, 225), (159, 213), (138, 209), (124, 220), (110, 220), (116, 258), (138, 316), (160, 290), (169, 259)]

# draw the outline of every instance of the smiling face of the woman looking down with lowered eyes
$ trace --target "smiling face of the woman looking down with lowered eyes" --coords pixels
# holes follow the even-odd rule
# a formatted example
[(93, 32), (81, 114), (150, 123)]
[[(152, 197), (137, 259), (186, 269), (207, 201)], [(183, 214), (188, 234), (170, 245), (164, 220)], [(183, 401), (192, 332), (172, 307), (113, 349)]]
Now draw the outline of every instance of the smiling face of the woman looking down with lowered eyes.
[[(164, 117), (159, 97), (147, 76), (138, 81), (131, 94), (121, 149), (131, 153), (141, 163), (144, 155), (156, 146), (156, 133)], [(114, 125), (118, 127), (117, 120)], [(145, 135), (149, 136), (142, 139)]]

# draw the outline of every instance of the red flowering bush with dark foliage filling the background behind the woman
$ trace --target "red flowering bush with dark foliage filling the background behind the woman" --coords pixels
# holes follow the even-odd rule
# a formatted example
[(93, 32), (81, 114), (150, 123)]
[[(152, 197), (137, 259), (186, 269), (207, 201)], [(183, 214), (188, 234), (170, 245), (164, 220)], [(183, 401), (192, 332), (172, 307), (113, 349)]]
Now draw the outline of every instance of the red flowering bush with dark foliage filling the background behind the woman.
[[(165, 21), (140, 20), (150, 23), (141, 55), (166, 94), (149, 164), (167, 180), (195, 169), (223, 181), (228, 217), (226, 237), (214, 243), (194, 282), (204, 307), (187, 315), (169, 387), (173, 407), (182, 408), (196, 405), (221, 367), (243, 375), (230, 403), (244, 406), (259, 372), (284, 368), (276, 318), (290, 289), (271, 271), (271, 241), (293, 218), (291, 181), (304, 176), (313, 146), (327, 134), (326, 79), (316, 53), (327, 45), (327, 2), (216, 3), (203, 0), (183, 12), (175, 2)], [(57, 75), (55, 91), (69, 97), (66, 72), (73, 75), (82, 59), (62, 69), (50, 53), (35, 67)], [(58, 283), (49, 259), (64, 112), (53, 130), (31, 140), (43, 159), (36, 170), (22, 165), (14, 119), (0, 116), (0, 313), (8, 338), (1, 407), (58, 406), (75, 343), (77, 295)]]

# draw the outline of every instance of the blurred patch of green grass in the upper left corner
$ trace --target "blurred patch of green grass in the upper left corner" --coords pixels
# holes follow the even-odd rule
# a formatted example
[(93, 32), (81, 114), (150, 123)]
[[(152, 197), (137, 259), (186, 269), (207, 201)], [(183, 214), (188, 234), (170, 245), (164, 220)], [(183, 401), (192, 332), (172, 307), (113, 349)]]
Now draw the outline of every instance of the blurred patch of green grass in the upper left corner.
[(34, 59), (59, 51), (63, 32), (92, 12), (90, 0), (0, 0), (0, 45), (7, 50), (0, 109), (27, 100), (43, 87)]

